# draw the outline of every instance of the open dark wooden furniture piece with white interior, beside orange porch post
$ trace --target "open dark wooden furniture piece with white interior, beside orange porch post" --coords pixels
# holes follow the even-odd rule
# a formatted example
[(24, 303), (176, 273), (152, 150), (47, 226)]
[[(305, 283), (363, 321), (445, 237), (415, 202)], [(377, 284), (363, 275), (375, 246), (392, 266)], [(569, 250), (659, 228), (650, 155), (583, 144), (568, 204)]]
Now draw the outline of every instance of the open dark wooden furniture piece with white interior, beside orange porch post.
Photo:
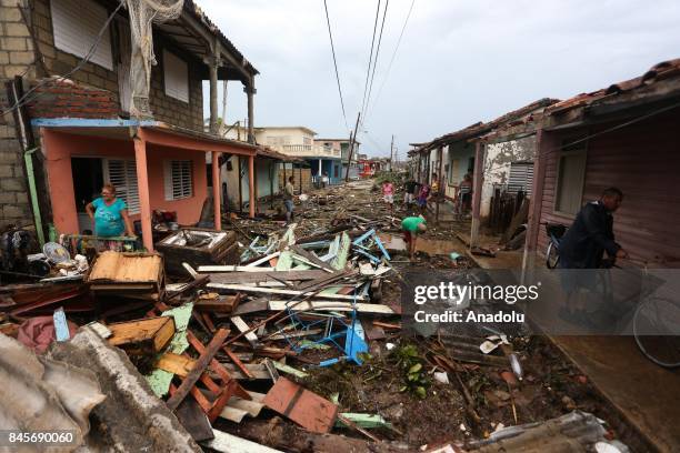
[(233, 231), (186, 228), (170, 234), (154, 246), (164, 258), (166, 270), (173, 275), (184, 274), (182, 263), (198, 268), (239, 262), (239, 246)]

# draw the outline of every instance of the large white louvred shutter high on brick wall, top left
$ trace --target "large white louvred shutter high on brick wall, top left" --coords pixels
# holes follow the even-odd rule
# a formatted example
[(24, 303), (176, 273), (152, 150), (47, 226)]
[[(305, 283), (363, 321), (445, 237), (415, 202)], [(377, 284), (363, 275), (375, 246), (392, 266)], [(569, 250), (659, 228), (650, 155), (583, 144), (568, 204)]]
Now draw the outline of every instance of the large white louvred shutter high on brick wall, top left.
[[(107, 21), (109, 14), (106, 8), (91, 0), (51, 0), (50, 9), (54, 47), (77, 57), (86, 57)], [(108, 70), (113, 69), (109, 30), (103, 31), (90, 61)]]

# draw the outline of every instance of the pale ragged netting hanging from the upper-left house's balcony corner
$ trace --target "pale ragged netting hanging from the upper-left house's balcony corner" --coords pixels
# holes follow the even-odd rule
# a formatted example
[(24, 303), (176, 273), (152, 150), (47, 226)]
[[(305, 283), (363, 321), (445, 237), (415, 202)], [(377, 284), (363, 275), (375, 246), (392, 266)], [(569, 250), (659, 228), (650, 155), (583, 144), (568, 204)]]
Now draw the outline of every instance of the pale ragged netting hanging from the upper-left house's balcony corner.
[(153, 23), (177, 19), (182, 12), (184, 0), (124, 0), (130, 14), (132, 33), (132, 57), (130, 61), (130, 85), (132, 101), (130, 113), (133, 117), (151, 117), (149, 85), (151, 67), (156, 66), (153, 54)]

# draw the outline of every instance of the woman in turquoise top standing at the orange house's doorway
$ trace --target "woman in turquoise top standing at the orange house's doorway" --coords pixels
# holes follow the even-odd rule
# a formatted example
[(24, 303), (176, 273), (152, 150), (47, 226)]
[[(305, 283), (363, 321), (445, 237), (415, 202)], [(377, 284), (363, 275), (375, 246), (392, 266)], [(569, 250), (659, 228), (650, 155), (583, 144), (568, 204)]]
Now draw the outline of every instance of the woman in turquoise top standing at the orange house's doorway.
[(101, 197), (88, 203), (86, 211), (94, 221), (94, 235), (100, 238), (116, 238), (126, 233), (133, 236), (132, 223), (128, 215), (126, 202), (116, 198), (113, 184), (101, 188)]

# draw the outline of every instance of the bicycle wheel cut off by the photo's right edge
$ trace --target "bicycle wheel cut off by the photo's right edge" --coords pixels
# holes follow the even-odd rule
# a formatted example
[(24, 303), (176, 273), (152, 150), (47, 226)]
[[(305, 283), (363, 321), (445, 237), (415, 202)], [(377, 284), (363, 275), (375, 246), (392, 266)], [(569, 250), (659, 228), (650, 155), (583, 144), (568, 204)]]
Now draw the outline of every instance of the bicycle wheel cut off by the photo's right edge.
[(640, 351), (656, 364), (680, 366), (680, 303), (648, 298), (633, 315), (633, 335)]

